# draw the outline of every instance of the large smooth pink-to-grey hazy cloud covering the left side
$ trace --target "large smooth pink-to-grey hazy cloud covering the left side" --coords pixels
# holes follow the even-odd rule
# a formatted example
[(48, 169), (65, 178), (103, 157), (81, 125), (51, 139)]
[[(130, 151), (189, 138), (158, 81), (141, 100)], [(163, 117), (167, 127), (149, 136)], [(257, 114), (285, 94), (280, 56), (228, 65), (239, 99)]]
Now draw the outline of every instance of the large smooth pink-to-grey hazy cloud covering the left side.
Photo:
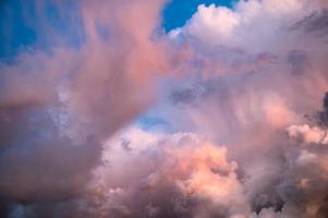
[[(168, 69), (158, 34), (162, 3), (28, 4), (44, 33), (37, 38), (50, 48), (23, 50), (0, 65), (3, 216), (19, 203), (31, 216), (56, 217), (63, 202), (83, 194), (101, 164), (101, 143), (151, 102), (153, 77)], [(51, 34), (47, 7), (84, 34), (82, 45), (66, 45), (65, 32)]]

